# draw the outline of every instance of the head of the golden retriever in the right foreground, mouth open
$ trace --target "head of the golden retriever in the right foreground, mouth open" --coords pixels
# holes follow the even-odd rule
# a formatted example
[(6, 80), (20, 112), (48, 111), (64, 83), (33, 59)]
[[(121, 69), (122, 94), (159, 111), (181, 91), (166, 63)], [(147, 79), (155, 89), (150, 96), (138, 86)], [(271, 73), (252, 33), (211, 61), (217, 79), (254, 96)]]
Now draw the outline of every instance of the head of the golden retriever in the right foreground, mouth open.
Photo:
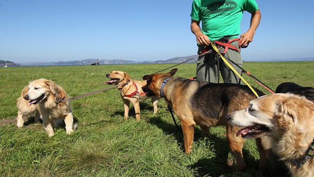
[(229, 123), (245, 128), (237, 136), (257, 138), (269, 135), (280, 139), (288, 131), (305, 132), (314, 119), (314, 104), (291, 94), (270, 94), (250, 102), (244, 110), (227, 116)]

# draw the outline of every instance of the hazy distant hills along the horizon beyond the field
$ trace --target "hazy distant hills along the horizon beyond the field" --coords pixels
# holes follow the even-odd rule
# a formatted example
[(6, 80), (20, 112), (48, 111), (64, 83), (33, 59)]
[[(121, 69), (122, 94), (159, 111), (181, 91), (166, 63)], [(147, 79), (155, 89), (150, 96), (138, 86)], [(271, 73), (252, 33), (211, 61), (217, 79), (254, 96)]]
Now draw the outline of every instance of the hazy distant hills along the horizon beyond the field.
[[(195, 63), (198, 59), (198, 55), (191, 55), (186, 57), (175, 57), (168, 60), (157, 60), (157, 61), (144, 61), (135, 62), (131, 60), (99, 60), (101, 65), (104, 64), (149, 64), (149, 63)], [(282, 61), (314, 61), (314, 57), (309, 58), (299, 58), (299, 59), (267, 59), (267, 60), (244, 60), (244, 62), (282, 62)], [(58, 61), (58, 62), (23, 62), (23, 63), (13, 63), (10, 61), (0, 60), (0, 66), (62, 66), (62, 65), (91, 65), (96, 63), (97, 59), (86, 59), (86, 60), (75, 60), (75, 61)]]

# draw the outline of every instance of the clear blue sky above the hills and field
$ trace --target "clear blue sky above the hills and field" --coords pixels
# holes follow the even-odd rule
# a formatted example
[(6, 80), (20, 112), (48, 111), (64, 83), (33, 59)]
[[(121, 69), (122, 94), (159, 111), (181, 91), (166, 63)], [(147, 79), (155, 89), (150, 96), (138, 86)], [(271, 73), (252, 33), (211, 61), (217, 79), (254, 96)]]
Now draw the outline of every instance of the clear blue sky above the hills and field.
[[(242, 59), (314, 57), (314, 1), (256, 0), (260, 25)], [(0, 0), (0, 60), (156, 61), (197, 54), (192, 0)], [(244, 13), (241, 33), (251, 14)]]

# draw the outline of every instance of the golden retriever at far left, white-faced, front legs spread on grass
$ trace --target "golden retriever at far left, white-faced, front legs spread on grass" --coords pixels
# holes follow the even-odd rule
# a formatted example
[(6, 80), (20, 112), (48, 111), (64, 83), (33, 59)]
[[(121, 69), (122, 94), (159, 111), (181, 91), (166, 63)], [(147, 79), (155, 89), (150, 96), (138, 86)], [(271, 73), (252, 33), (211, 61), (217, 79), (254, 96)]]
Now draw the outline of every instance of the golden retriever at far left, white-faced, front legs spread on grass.
[(77, 122), (73, 122), (70, 102), (66, 101), (69, 96), (55, 82), (43, 78), (31, 81), (23, 98), (29, 101), (29, 106), (39, 105), (43, 126), (49, 137), (54, 135), (53, 128), (58, 127), (61, 121), (65, 123), (67, 134), (77, 127)]

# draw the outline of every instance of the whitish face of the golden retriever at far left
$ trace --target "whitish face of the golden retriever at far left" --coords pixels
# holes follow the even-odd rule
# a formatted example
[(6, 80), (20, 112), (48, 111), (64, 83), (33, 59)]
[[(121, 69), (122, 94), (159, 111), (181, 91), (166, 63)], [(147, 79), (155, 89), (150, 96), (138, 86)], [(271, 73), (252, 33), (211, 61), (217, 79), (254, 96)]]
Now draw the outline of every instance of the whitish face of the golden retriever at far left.
[(54, 91), (54, 84), (50, 80), (37, 79), (29, 82), (28, 92), (23, 97), (25, 100), (30, 100), (27, 104), (37, 104), (46, 99), (52, 91)]

